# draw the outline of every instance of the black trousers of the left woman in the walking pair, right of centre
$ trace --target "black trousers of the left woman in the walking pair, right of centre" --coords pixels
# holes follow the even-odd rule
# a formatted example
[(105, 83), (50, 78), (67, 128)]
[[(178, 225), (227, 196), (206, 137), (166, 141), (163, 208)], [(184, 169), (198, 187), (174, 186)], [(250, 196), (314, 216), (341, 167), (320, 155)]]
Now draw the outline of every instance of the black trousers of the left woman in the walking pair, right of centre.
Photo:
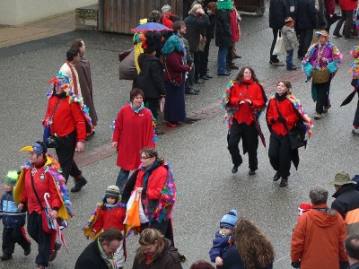
[(233, 117), (233, 125), (231, 129), (231, 134), (228, 141), (228, 150), (232, 156), (232, 163), (234, 165), (241, 165), (241, 153), (239, 148), (239, 143), (242, 140), (243, 147), (248, 152), (250, 169), (258, 169), (258, 132), (255, 126), (255, 123), (251, 123), (249, 126), (245, 123), (239, 124), (238, 121)]

